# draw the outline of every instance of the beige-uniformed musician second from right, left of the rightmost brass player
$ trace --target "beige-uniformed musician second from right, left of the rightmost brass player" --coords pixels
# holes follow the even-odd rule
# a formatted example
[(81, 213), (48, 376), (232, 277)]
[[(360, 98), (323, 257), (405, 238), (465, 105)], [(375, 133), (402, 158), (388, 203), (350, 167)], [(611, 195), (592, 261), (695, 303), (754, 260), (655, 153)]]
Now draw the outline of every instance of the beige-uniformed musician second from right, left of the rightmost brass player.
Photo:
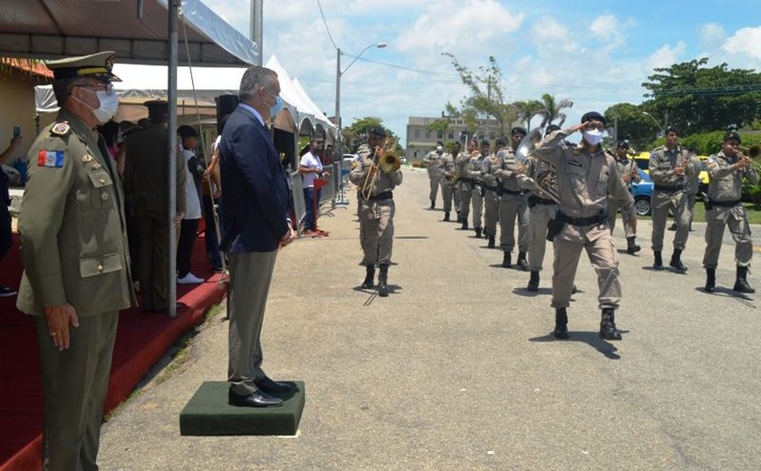
[(673, 127), (666, 129), (666, 144), (650, 153), (650, 178), (653, 183), (650, 207), (652, 208), (652, 251), (656, 270), (663, 269), (660, 255), (663, 250), (663, 234), (669, 218), (669, 209), (674, 212), (677, 233), (674, 235), (674, 252), (669, 265), (677, 273), (687, 273), (681, 262), (681, 253), (689, 235), (689, 213), (685, 185), (692, 178), (696, 168), (688, 159), (687, 150), (679, 147), (679, 131)]

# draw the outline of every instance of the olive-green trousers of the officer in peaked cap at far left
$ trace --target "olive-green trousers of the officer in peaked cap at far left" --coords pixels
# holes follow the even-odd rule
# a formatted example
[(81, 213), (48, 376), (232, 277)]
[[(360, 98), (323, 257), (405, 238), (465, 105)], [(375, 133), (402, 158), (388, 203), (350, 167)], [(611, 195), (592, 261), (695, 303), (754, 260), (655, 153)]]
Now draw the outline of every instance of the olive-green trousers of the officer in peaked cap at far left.
[(43, 315), (34, 322), (42, 363), (43, 470), (97, 469), (119, 312), (80, 318), (79, 327), (69, 328), (64, 351), (53, 347)]

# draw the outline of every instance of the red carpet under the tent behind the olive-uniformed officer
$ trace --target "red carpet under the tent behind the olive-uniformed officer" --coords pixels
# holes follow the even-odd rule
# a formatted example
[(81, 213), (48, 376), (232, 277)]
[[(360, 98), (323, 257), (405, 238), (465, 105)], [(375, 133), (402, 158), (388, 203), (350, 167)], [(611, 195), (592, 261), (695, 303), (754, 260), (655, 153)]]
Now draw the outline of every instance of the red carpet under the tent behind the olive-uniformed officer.
[[(0, 284), (18, 288), (21, 280), (18, 240), (0, 263)], [(178, 285), (178, 301), (188, 307), (174, 319), (148, 314), (140, 308), (122, 311), (116, 335), (111, 381), (105, 410), (127, 399), (143, 375), (182, 333), (203, 320), (207, 308), (219, 303), (226, 290), (217, 287), (206, 260), (203, 236), (196, 241), (193, 272), (207, 283)], [(140, 296), (139, 296), (140, 299)], [(43, 392), (40, 357), (31, 316), (18, 312), (15, 297), (0, 298), (0, 471), (40, 469), (43, 424)]]

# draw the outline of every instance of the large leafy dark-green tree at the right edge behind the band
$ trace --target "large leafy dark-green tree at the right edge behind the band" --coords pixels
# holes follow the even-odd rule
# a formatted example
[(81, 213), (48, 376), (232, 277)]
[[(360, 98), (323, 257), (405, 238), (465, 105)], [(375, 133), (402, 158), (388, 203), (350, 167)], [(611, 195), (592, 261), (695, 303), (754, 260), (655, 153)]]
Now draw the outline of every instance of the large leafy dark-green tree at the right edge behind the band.
[(728, 69), (727, 63), (707, 67), (708, 58), (654, 69), (643, 111), (667, 116), (682, 134), (742, 128), (761, 118), (761, 73)]

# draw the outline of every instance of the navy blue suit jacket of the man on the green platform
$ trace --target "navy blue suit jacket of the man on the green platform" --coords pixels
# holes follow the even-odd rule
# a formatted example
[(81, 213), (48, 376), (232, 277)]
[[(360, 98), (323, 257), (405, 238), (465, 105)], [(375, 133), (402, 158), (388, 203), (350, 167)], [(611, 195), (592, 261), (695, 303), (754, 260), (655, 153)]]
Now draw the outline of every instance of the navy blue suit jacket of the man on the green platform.
[(226, 252), (272, 252), (288, 230), (288, 187), (277, 150), (254, 114), (238, 105), (219, 143), (222, 243)]

